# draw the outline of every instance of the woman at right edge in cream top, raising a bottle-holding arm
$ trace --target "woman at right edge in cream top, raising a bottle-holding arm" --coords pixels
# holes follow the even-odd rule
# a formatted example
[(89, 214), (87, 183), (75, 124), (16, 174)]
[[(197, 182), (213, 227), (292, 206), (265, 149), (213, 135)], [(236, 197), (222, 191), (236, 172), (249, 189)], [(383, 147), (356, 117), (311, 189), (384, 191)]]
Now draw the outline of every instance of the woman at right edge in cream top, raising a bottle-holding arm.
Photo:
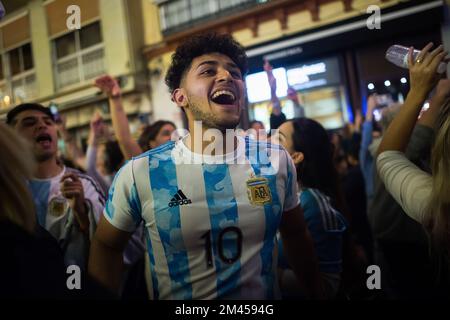
[[(432, 249), (440, 257), (443, 271), (449, 275), (450, 253), (450, 82), (441, 80), (437, 94), (422, 117), (433, 118), (435, 142), (431, 154), (432, 174), (421, 171), (404, 155), (411, 132), (425, 99), (439, 81), (437, 68), (446, 61), (447, 52), (439, 46), (429, 52), (432, 43), (425, 46), (415, 61), (409, 55), (410, 91), (398, 116), (392, 121), (378, 149), (377, 169), (386, 189), (403, 210), (428, 231)], [(440, 108), (439, 108), (440, 106)], [(439, 110), (440, 109), (440, 110)], [(428, 113), (438, 113), (431, 117)], [(446, 279), (449, 280), (448, 278)], [(445, 281), (444, 281), (445, 282)]]

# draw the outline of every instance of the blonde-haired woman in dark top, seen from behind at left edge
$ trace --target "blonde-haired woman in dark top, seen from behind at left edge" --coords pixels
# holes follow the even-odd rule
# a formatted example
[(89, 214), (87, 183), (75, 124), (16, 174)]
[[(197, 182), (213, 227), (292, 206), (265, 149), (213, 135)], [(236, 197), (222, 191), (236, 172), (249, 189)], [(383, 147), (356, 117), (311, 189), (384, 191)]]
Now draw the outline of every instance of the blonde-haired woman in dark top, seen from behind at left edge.
[(66, 297), (62, 252), (36, 223), (31, 147), (0, 123), (0, 297)]

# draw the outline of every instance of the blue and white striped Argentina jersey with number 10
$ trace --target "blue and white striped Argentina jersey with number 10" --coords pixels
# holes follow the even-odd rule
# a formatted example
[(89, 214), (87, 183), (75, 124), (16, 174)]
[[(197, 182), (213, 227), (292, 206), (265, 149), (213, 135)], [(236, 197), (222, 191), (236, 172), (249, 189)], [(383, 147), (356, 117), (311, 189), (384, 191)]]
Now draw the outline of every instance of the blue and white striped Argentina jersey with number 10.
[(144, 221), (151, 298), (278, 297), (276, 231), (299, 204), (294, 164), (278, 145), (237, 140), (216, 157), (169, 142), (116, 175), (104, 215), (127, 232)]

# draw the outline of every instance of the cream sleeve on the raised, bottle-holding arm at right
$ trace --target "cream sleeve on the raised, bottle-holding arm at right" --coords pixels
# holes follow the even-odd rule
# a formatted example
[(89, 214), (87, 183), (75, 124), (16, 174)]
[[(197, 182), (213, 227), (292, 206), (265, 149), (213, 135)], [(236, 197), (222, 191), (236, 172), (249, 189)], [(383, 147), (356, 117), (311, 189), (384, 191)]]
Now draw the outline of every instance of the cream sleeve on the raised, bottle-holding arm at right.
[(403, 210), (422, 223), (431, 197), (431, 176), (399, 151), (381, 153), (377, 158), (377, 170), (386, 189)]

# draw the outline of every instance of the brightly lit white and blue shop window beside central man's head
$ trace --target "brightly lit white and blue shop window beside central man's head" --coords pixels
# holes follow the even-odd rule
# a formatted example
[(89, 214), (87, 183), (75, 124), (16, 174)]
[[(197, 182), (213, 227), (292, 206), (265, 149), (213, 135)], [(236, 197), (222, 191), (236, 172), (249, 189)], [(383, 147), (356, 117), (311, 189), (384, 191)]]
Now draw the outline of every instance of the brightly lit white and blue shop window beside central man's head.
[[(275, 68), (277, 96), (286, 118), (293, 119), (299, 114), (295, 104), (287, 98), (287, 89), (291, 87), (297, 92), (306, 117), (316, 119), (327, 129), (342, 127), (348, 121), (348, 113), (341, 64), (339, 56), (329, 56)], [(266, 73), (249, 74), (246, 86), (250, 119), (270, 128), (270, 88)]]

